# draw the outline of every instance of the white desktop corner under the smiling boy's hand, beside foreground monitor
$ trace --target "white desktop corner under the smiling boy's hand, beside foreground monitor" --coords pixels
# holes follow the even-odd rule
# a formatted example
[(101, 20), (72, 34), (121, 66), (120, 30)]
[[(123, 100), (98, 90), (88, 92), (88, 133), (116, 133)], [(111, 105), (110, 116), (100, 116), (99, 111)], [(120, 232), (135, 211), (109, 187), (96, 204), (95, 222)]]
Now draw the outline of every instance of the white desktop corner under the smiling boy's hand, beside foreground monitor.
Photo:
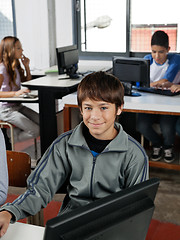
[(10, 224), (1, 240), (43, 240), (44, 227), (16, 222)]

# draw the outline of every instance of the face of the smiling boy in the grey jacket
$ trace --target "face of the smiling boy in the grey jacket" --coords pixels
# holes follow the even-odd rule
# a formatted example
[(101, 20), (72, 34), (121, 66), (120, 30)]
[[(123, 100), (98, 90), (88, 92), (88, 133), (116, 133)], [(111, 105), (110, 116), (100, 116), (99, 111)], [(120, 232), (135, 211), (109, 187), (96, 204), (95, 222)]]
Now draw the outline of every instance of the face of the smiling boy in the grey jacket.
[(114, 121), (122, 112), (122, 107), (104, 101), (94, 101), (89, 98), (82, 102), (81, 114), (84, 124), (91, 135), (100, 140), (110, 140), (116, 137)]

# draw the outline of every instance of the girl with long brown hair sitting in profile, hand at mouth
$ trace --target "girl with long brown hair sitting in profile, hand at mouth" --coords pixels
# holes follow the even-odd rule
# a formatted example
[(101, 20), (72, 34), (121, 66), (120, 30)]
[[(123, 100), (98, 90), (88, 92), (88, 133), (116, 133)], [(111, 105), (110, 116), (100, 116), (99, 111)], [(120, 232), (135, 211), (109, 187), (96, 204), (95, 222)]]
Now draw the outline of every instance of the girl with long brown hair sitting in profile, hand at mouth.
[[(23, 64), (26, 72), (21, 67)], [(21, 82), (31, 79), (29, 59), (23, 55), (21, 42), (16, 37), (5, 37), (0, 43), (0, 98), (18, 97), (29, 92), (21, 89)], [(0, 119), (16, 126), (15, 141), (39, 136), (39, 115), (20, 103), (0, 103)]]

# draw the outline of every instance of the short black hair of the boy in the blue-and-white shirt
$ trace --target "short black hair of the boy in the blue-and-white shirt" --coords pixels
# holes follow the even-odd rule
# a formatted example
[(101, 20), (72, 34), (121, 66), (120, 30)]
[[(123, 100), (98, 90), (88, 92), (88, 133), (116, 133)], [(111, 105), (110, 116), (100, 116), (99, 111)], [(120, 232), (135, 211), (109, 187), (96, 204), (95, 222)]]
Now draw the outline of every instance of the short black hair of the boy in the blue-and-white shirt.
[(151, 38), (151, 46), (158, 45), (168, 49), (169, 37), (164, 31), (156, 31)]

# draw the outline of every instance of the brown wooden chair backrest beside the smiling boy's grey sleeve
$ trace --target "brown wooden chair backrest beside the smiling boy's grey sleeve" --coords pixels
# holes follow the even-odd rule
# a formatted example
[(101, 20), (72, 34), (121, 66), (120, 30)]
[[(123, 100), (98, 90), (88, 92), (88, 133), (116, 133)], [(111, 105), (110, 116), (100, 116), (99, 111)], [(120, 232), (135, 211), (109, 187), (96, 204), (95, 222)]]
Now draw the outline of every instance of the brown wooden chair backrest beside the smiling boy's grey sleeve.
[(26, 179), (31, 173), (31, 158), (24, 152), (6, 151), (9, 186), (26, 187)]

